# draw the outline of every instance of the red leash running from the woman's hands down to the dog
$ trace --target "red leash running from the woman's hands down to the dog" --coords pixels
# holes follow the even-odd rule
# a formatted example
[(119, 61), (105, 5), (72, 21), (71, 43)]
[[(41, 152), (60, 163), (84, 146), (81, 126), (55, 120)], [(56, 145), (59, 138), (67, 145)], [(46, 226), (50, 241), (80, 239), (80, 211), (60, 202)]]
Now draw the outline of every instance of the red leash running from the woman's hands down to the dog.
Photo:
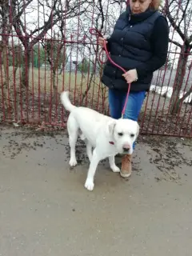
[[(103, 38), (101, 32), (100, 32), (99, 30), (97, 30), (97, 29), (94, 29), (94, 28), (91, 28), (91, 29), (90, 29), (90, 34), (95, 35), (97, 38), (98, 38), (98, 37)], [(104, 49), (105, 49), (105, 51), (106, 51), (106, 56), (107, 56), (107, 58), (110, 60), (110, 62), (111, 62), (112, 64), (114, 64), (114, 66), (117, 66), (120, 70), (122, 70), (122, 72), (123, 72), (124, 74), (126, 74), (126, 70), (124, 70), (124, 69), (122, 68), (122, 66), (118, 66), (118, 64), (115, 63), (115, 62), (110, 58), (110, 54), (109, 54), (109, 52), (108, 52), (108, 50), (107, 50), (106, 42), (105, 42), (105, 41), (104, 41)], [(101, 52), (102, 52), (102, 49), (101, 49)], [(102, 64), (104, 64), (104, 63), (106, 63), (106, 62), (102, 62), (102, 59), (100, 58), (101, 52), (100, 52), (100, 54), (98, 55), (98, 56), (99, 56), (98, 58), (99, 58), (99, 62), (101, 62)], [(126, 102), (125, 102), (125, 105), (123, 106), (123, 109), (122, 109), (122, 118), (123, 118), (123, 115), (125, 114), (125, 111), (126, 111), (126, 104), (127, 104), (127, 102), (128, 102), (129, 94), (130, 94), (130, 83), (128, 84), (128, 90), (127, 90), (127, 93), (126, 93)]]

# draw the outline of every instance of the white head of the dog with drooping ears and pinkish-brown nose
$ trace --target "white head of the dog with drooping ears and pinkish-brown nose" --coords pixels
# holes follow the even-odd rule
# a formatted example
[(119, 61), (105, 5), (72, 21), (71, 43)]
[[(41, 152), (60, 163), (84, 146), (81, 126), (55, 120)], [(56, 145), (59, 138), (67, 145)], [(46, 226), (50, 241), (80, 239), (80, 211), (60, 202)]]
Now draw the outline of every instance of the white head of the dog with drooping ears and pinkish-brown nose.
[(108, 130), (120, 154), (133, 153), (133, 144), (139, 133), (138, 122), (130, 119), (110, 121)]

